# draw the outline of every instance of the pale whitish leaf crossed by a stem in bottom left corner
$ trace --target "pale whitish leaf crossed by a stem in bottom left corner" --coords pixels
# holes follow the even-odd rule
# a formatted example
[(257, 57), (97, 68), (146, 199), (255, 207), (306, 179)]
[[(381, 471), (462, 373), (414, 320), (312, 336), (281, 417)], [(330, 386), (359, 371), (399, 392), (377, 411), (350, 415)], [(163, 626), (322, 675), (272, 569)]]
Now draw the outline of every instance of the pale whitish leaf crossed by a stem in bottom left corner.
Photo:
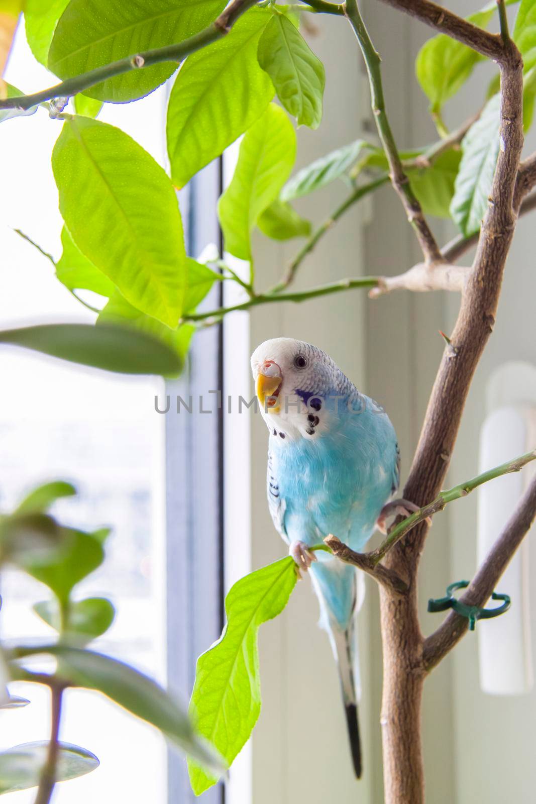
[[(0, 794), (38, 786), (47, 750), (48, 740), (38, 740), (0, 752)], [(91, 751), (80, 745), (59, 743), (56, 781), (76, 779), (98, 767), (99, 761)]]

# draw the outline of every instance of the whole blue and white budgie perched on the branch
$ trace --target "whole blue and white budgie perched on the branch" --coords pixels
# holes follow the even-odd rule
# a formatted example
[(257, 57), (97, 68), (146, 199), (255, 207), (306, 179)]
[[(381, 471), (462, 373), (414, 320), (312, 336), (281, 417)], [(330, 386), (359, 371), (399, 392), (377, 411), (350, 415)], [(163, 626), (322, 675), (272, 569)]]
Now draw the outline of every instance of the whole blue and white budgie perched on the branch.
[(354, 770), (362, 773), (355, 615), (362, 573), (325, 552), (333, 534), (362, 551), (388, 516), (415, 511), (388, 502), (399, 487), (399, 449), (387, 414), (363, 396), (325, 352), (293, 338), (257, 347), (252, 372), (268, 425), (268, 506), (298, 568), (310, 568), (320, 624), (338, 662)]

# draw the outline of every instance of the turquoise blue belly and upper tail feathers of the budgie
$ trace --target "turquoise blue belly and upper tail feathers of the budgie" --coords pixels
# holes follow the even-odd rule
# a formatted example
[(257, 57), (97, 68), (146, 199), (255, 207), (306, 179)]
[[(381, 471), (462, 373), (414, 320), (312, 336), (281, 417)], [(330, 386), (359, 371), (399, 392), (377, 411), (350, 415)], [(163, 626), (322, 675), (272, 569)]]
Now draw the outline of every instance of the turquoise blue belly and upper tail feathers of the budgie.
[[(356, 392), (357, 393), (357, 392)], [(351, 401), (351, 400), (350, 400)], [(358, 404), (325, 400), (325, 427), (312, 438), (281, 441), (268, 449), (268, 501), (285, 541), (321, 544), (329, 533), (362, 551), (383, 505), (398, 487), (398, 448), (391, 421), (366, 396)], [(270, 485), (271, 484), (271, 485)], [(355, 571), (317, 553), (313, 576), (329, 619), (346, 628), (355, 605)]]

